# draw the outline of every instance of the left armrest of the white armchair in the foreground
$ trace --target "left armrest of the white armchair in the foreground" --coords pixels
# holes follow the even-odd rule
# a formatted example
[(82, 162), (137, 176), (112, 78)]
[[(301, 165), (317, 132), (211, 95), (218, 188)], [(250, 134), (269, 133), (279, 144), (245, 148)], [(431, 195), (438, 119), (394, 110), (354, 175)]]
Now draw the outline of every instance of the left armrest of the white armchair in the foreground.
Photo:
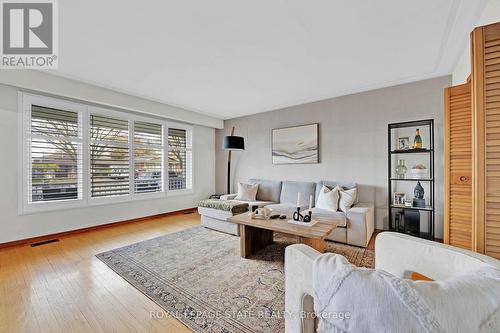
[(320, 253), (313, 248), (295, 244), (285, 249), (285, 331), (287, 333), (313, 332), (314, 319), (304, 312), (313, 313), (312, 302), (304, 307), (304, 299), (313, 295), (313, 262)]

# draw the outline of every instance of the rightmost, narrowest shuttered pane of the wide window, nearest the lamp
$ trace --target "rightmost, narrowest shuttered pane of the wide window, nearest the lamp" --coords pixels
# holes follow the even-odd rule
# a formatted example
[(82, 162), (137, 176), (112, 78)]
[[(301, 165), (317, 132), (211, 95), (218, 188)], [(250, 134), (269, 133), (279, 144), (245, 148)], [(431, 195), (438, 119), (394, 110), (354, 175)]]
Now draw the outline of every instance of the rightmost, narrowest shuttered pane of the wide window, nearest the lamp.
[(192, 142), (187, 129), (168, 129), (168, 189), (192, 188)]

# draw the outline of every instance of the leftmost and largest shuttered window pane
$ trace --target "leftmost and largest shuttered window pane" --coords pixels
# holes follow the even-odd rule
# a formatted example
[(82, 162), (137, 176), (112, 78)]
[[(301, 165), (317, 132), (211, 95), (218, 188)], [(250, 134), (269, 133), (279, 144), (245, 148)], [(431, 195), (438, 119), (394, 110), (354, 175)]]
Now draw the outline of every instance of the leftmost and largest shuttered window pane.
[(81, 121), (78, 112), (30, 108), (29, 202), (82, 196)]

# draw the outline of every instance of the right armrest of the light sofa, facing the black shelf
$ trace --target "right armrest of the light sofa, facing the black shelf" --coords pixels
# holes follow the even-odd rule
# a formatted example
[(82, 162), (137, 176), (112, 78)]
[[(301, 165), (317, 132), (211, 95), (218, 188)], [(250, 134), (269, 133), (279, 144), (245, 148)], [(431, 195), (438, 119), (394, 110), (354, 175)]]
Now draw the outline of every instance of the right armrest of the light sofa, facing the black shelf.
[(366, 247), (375, 230), (372, 203), (359, 202), (347, 211), (347, 243)]

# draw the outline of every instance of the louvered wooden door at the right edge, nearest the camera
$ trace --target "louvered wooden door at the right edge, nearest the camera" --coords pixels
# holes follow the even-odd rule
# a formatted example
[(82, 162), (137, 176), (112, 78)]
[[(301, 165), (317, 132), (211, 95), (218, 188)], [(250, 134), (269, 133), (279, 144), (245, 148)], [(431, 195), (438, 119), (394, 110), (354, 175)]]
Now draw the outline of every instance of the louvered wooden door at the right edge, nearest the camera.
[(472, 33), (476, 250), (500, 258), (500, 23)]

